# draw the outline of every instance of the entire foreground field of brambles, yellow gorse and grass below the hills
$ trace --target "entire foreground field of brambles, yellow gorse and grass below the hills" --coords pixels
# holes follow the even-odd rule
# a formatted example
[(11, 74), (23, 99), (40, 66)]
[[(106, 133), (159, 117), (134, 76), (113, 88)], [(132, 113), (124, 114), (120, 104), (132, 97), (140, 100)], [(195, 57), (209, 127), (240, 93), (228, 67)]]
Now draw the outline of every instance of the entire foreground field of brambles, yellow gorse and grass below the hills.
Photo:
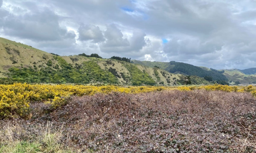
[(0, 85), (0, 153), (253, 153), (256, 88)]

